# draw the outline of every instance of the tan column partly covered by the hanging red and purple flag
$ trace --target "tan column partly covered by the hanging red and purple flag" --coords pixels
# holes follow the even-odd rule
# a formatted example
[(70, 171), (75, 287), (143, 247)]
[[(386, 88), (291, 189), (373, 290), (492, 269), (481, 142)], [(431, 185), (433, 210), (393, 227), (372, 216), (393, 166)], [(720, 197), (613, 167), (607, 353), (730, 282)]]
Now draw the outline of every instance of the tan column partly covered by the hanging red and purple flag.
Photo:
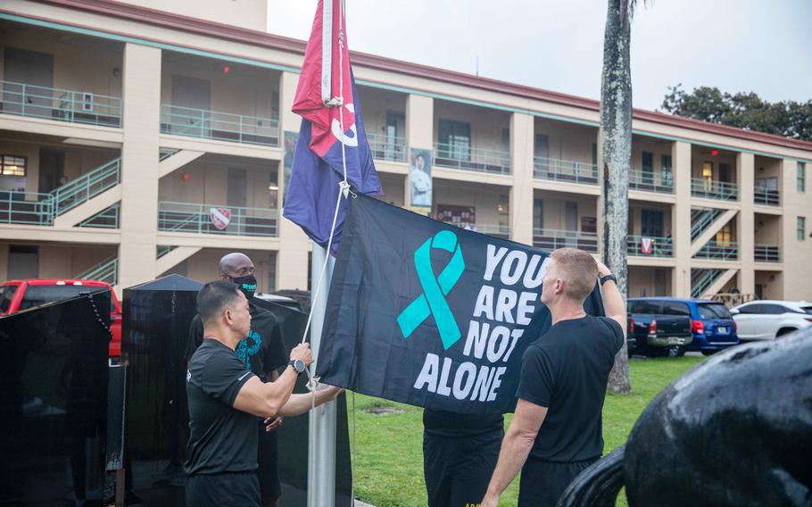
[[(286, 138), (292, 140), (299, 135), (302, 118), (291, 111), (298, 83), (299, 74), (282, 72), (279, 83), (279, 123), (283, 147), (286, 144)], [(307, 254), (310, 251), (310, 239), (294, 222), (282, 218), (282, 208), (291, 170), (290, 167), (285, 167), (285, 162), (283, 154), (283, 160), (279, 164), (278, 231), (280, 247), (277, 256), (277, 288), (305, 290), (307, 289)]]

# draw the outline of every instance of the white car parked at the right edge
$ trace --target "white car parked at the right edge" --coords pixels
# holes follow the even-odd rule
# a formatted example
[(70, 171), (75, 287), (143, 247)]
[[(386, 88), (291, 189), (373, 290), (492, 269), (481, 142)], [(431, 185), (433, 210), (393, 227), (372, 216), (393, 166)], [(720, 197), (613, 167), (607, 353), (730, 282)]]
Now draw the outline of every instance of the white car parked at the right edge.
[(772, 340), (812, 326), (808, 301), (750, 301), (733, 307), (742, 340)]

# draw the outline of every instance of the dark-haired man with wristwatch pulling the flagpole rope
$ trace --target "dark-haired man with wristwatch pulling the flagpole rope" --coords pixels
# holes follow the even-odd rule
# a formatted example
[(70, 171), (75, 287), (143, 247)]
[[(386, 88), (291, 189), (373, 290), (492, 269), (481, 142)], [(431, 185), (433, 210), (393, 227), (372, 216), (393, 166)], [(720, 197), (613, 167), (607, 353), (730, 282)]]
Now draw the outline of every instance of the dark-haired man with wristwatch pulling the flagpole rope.
[[(248, 308), (248, 300), (230, 282), (210, 282), (197, 295), (205, 338), (186, 372), (187, 505), (260, 505), (257, 416), (284, 411), (293, 402), (296, 377), (313, 361), (310, 345), (297, 345), (278, 380), (263, 383), (235, 353), (251, 329)], [(302, 396), (307, 399), (299, 401), (308, 403), (310, 397)]]

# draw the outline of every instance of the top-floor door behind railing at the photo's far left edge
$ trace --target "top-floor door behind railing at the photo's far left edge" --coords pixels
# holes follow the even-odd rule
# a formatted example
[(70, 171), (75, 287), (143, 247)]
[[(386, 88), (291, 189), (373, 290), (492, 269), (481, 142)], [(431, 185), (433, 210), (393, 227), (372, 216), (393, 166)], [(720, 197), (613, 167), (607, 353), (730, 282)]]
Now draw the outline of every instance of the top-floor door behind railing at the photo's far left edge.
[(54, 55), (5, 46), (3, 112), (53, 118)]

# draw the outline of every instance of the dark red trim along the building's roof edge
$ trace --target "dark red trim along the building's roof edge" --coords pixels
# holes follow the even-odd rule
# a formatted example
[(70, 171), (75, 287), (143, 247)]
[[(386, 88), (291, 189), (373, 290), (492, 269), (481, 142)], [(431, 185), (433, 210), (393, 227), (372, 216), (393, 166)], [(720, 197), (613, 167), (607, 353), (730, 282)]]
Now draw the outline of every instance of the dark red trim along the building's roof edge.
[[(52, 4), (68, 9), (104, 14), (129, 21), (143, 22), (168, 29), (182, 30), (208, 37), (218, 37), (234, 42), (250, 44), (253, 46), (288, 51), (295, 54), (304, 54), (304, 49), (306, 46), (304, 41), (290, 37), (282, 37), (258, 30), (244, 29), (215, 21), (200, 20), (172, 12), (158, 11), (139, 5), (123, 4), (120, 2), (114, 2), (112, 0), (33, 1), (41, 4)], [(462, 72), (447, 71), (418, 63), (402, 62), (399, 60), (393, 60), (391, 58), (385, 58), (383, 56), (377, 56), (375, 54), (358, 53), (354, 51), (351, 54), (353, 62), (365, 67), (380, 69), (383, 71), (393, 71), (420, 78), (435, 79), (466, 87), (476, 87), (498, 93), (509, 94), (512, 96), (521, 96), (543, 102), (549, 102), (552, 104), (568, 105), (591, 111), (600, 110), (599, 101), (589, 98), (571, 96), (540, 88), (507, 83), (498, 79), (480, 78)], [(812, 151), (812, 142), (809, 141), (775, 136), (773, 134), (765, 134), (763, 132), (755, 132), (752, 130), (737, 129), (735, 127), (727, 127), (725, 125), (709, 123), (708, 121), (690, 120), (662, 112), (634, 109), (633, 113), (634, 119), (636, 120), (651, 121), (671, 127), (699, 130), (708, 134), (738, 137), (769, 145), (780, 145)]]

